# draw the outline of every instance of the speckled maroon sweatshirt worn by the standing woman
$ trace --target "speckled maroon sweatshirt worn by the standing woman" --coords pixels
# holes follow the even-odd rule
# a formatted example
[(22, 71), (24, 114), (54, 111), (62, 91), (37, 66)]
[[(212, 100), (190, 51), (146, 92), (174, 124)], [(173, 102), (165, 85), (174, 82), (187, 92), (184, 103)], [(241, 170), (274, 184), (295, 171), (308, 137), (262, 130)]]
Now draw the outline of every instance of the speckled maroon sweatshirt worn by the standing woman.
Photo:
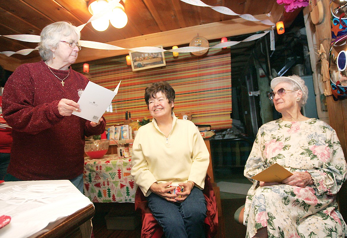
[[(68, 71), (51, 68), (60, 79)], [(83, 173), (85, 136), (100, 135), (105, 120), (92, 127), (81, 117), (61, 116), (62, 98), (79, 99), (88, 79), (72, 70), (64, 87), (44, 61), (23, 64), (9, 77), (2, 95), (2, 113), (12, 126), (8, 173), (22, 180), (73, 179)]]

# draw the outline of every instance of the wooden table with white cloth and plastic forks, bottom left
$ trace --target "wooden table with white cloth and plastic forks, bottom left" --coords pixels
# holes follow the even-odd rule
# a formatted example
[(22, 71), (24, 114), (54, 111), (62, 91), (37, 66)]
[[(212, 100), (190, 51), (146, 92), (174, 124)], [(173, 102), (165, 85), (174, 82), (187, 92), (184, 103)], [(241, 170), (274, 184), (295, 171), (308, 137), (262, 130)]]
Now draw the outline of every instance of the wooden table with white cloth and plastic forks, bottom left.
[(91, 235), (94, 206), (69, 180), (4, 182), (0, 194), (11, 195), (0, 197), (0, 214), (11, 216), (0, 229), (1, 238)]

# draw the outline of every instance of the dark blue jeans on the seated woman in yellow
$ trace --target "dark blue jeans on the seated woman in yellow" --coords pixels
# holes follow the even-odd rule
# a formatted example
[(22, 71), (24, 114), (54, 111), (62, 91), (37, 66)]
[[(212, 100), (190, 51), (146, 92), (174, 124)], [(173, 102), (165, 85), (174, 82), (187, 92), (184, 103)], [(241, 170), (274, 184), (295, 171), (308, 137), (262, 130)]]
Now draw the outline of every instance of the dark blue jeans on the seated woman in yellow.
[(202, 190), (194, 187), (182, 203), (168, 202), (153, 192), (146, 199), (167, 238), (205, 238), (207, 208)]

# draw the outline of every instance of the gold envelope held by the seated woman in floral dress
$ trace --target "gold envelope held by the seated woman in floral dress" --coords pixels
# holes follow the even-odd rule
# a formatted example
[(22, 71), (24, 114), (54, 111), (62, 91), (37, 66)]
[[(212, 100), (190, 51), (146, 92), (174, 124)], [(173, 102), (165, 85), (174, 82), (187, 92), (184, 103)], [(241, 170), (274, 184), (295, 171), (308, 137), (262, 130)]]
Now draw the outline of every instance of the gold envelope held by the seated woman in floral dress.
[(279, 164), (273, 164), (262, 172), (254, 175), (251, 179), (262, 182), (281, 182), (283, 179), (293, 175)]

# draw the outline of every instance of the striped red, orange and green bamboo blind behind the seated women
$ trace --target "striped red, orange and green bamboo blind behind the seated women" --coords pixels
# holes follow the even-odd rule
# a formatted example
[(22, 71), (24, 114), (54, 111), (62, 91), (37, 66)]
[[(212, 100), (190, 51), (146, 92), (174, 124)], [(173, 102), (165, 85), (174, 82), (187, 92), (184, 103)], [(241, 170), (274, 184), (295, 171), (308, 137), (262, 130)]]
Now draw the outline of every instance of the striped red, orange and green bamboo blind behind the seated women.
[[(190, 112), (195, 124), (209, 124), (212, 129), (231, 127), (231, 65), (229, 50), (209, 49), (206, 56), (189, 53), (174, 58), (165, 54), (166, 66), (132, 71), (125, 56), (90, 62), (91, 80), (108, 89), (115, 89), (122, 80), (117, 96), (112, 101), (113, 112), (106, 112), (107, 126), (122, 124), (125, 112), (131, 119), (151, 118), (144, 100), (146, 86), (156, 81), (167, 81), (175, 89), (175, 115)], [(74, 65), (82, 72), (82, 64)]]

